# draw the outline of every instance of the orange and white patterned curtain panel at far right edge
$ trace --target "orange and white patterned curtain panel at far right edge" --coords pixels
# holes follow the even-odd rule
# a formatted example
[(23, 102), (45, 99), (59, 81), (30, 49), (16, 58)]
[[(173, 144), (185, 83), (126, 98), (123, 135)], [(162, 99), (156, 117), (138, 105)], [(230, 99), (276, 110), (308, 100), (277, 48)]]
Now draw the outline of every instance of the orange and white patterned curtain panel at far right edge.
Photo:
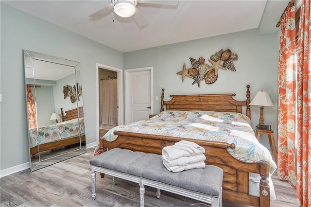
[(310, 0), (303, 0), (297, 47), (297, 206), (311, 206), (311, 50)]

